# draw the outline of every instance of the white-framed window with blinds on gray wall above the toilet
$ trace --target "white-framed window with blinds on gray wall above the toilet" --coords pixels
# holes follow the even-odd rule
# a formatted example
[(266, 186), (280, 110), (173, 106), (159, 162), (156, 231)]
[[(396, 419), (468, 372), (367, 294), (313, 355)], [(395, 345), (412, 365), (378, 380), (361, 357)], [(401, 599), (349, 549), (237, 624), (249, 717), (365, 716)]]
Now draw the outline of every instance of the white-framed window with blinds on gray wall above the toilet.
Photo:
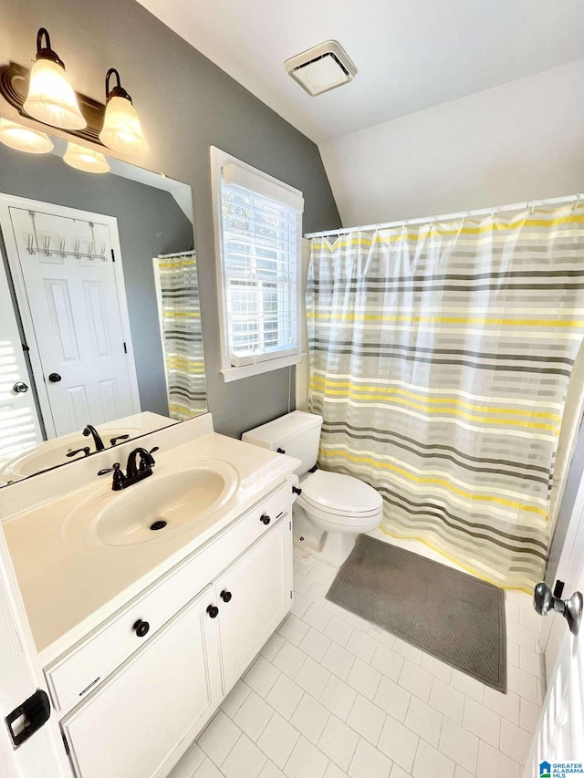
[(302, 193), (211, 149), (222, 372), (226, 381), (300, 360)]

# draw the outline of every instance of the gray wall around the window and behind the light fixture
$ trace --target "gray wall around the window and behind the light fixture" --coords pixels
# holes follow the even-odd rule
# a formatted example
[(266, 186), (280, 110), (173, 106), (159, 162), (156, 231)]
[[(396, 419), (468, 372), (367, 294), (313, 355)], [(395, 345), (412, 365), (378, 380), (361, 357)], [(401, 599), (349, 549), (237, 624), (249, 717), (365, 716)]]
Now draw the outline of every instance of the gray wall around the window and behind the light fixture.
[[(193, 14), (196, 8), (193, 3)], [(317, 146), (134, 0), (3, 0), (3, 61), (29, 67), (39, 26), (47, 27), (79, 92), (103, 100), (108, 68), (120, 70), (151, 144), (139, 164), (193, 187), (207, 389), (215, 429), (238, 436), (285, 413), (287, 369), (229, 384), (219, 373), (209, 147), (217, 146), (302, 190), (304, 230), (310, 232), (340, 225)], [(0, 112), (8, 115), (8, 106), (0, 105)]]

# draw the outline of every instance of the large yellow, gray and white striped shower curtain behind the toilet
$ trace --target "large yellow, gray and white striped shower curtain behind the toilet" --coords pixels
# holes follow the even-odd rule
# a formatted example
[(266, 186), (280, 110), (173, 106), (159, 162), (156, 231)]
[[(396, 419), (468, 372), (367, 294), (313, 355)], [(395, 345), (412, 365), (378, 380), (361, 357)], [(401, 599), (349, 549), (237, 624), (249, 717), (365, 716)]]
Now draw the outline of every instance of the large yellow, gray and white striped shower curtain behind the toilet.
[(307, 307), (320, 465), (380, 491), (385, 533), (499, 586), (541, 580), (581, 210), (314, 238)]

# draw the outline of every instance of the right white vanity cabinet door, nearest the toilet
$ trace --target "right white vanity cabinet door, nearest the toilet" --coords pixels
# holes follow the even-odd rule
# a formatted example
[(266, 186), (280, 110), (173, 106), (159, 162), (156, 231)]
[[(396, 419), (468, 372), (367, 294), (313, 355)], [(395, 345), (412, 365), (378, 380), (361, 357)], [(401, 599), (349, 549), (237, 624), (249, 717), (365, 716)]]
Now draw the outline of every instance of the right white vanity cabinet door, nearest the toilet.
[(292, 605), (292, 532), (286, 517), (215, 581), (224, 692)]

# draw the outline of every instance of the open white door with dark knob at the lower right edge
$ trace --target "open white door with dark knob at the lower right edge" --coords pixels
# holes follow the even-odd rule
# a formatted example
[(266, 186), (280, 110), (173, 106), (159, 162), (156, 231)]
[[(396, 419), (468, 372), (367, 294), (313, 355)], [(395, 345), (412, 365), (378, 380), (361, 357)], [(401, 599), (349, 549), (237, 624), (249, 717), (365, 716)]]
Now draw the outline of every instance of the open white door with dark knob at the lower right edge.
[[(570, 524), (558, 573), (565, 580), (564, 598), (575, 591), (584, 593), (584, 481)], [(554, 632), (562, 631), (563, 636), (555, 668), (548, 676), (546, 700), (527, 758), (525, 778), (539, 776), (542, 762), (584, 763), (584, 623), (574, 636), (558, 613), (549, 613), (546, 618), (554, 619)]]

